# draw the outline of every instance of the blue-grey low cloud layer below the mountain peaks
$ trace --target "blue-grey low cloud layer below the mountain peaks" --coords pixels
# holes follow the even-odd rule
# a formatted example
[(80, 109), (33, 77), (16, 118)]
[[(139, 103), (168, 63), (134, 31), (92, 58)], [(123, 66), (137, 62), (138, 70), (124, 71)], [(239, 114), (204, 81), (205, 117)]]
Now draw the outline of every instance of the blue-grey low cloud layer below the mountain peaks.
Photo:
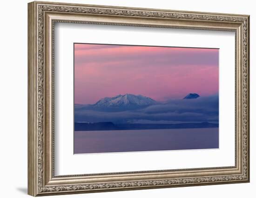
[(104, 112), (75, 107), (75, 121), (114, 123), (186, 123), (219, 121), (219, 96), (199, 97), (190, 100), (169, 100), (143, 109)]

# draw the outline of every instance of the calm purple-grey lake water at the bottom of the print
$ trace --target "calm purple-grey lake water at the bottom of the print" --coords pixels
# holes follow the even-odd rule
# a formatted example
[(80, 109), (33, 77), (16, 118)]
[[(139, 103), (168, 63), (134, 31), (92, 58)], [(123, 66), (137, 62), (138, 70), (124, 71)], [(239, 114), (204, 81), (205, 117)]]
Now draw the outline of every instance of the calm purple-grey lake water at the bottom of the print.
[(74, 132), (75, 154), (218, 147), (219, 128)]

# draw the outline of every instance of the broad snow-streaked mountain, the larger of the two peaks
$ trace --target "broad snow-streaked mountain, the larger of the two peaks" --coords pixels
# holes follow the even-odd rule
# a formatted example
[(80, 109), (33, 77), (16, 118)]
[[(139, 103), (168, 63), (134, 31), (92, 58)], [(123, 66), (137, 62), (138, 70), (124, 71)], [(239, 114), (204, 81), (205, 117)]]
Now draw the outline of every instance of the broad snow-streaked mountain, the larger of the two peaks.
[(127, 106), (145, 106), (155, 104), (156, 101), (152, 98), (125, 94), (115, 97), (105, 97), (94, 104), (94, 107), (127, 107)]

